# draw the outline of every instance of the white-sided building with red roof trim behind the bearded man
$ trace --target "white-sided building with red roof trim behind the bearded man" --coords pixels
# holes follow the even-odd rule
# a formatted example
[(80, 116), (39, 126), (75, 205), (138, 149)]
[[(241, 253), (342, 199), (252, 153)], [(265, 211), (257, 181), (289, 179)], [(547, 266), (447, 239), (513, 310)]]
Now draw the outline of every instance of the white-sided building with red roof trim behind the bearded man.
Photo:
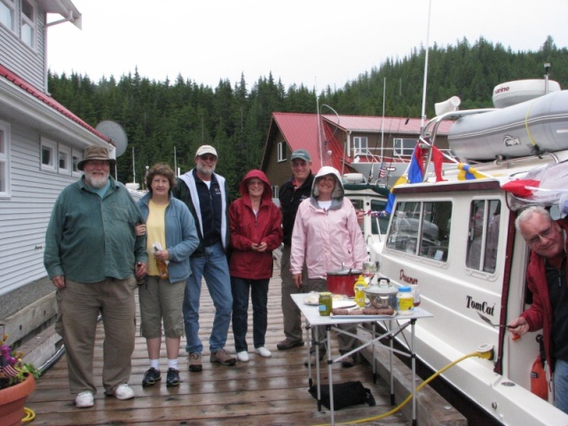
[[(12, 343), (38, 342), (55, 318), (43, 267), (53, 203), (81, 176), (86, 146), (106, 146), (115, 157), (109, 138), (48, 94), (52, 25), (81, 28), (81, 13), (69, 0), (0, 0), (0, 334)], [(48, 349), (28, 362), (41, 363), (59, 344), (52, 332), (44, 340)]]

